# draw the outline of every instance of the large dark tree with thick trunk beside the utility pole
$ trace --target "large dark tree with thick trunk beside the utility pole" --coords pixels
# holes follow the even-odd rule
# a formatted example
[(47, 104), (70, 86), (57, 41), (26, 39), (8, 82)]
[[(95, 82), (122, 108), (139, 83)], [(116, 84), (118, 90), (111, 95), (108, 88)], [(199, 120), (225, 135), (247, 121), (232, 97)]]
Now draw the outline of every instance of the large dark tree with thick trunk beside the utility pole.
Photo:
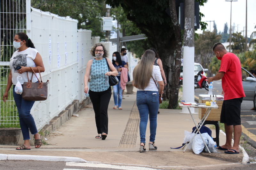
[[(197, 1), (197, 0), (196, 0)], [(207, 0), (199, 0), (200, 5)], [(106, 0), (112, 8), (122, 6), (128, 20), (147, 36), (147, 42), (156, 48), (163, 62), (167, 85), (164, 99), (169, 99), (169, 109), (178, 101), (181, 66), (182, 37), (174, 0)], [(170, 16), (165, 10), (170, 7)], [(202, 17), (201, 14), (200, 17)], [(205, 29), (205, 24), (201, 25)], [(145, 49), (146, 50), (146, 49)]]

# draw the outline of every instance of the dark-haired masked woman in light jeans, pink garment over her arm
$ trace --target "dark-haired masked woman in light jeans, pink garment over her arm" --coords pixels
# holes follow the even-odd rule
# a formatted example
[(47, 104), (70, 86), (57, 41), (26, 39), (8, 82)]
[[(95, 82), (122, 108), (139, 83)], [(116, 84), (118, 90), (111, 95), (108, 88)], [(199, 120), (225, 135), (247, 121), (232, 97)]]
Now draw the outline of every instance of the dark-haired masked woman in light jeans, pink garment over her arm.
[[(125, 67), (128, 70), (127, 64), (121, 60), (121, 55), (119, 52), (113, 53), (113, 59), (112, 64), (116, 68), (118, 75), (116, 76), (119, 80), (119, 83), (115, 86), (113, 86), (113, 94), (114, 94), (114, 107), (113, 109), (118, 108), (119, 110), (122, 110), (121, 104), (122, 104), (122, 88), (121, 88), (121, 71)], [(129, 70), (128, 70), (129, 71)]]

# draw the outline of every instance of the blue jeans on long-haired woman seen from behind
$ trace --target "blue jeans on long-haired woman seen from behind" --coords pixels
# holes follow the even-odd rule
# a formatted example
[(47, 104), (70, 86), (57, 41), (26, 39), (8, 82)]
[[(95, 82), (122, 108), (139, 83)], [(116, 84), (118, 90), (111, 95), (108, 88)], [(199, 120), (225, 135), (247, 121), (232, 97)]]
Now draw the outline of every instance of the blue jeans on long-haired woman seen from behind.
[(155, 142), (157, 111), (159, 108), (158, 91), (137, 91), (136, 104), (140, 113), (140, 142), (146, 143), (146, 129), (149, 115), (150, 142)]

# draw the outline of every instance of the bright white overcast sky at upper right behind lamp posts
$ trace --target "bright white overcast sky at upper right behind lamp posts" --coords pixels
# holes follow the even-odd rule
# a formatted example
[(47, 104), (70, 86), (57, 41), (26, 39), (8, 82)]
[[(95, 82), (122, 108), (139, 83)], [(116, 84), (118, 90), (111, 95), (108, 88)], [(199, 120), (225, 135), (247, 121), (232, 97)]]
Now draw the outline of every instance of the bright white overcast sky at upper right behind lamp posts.
[[(204, 14), (201, 21), (215, 21), (217, 30), (223, 32), (224, 24), (228, 23), (228, 33), (230, 29), (230, 2), (225, 0), (208, 0), (204, 6), (200, 6), (200, 12)], [(237, 0), (232, 2), (232, 18), (231, 25), (235, 23), (235, 32), (245, 31), (245, 14), (246, 14), (246, 0)], [(210, 22), (207, 29), (210, 30)], [(250, 37), (253, 31), (256, 31), (254, 26), (256, 25), (256, 0), (247, 0), (247, 36)], [(213, 22), (211, 22), (211, 31), (213, 31)], [(196, 33), (202, 33), (201, 29), (198, 29)], [(245, 36), (245, 32), (244, 32)]]

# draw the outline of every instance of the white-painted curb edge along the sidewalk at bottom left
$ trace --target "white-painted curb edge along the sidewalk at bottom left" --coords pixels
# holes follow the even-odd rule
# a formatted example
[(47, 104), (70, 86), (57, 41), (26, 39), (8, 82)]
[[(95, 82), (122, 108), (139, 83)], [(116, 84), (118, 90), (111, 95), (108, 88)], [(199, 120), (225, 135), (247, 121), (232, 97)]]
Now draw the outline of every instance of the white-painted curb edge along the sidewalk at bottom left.
[(86, 162), (77, 157), (0, 154), (0, 160), (41, 160), (53, 162)]

